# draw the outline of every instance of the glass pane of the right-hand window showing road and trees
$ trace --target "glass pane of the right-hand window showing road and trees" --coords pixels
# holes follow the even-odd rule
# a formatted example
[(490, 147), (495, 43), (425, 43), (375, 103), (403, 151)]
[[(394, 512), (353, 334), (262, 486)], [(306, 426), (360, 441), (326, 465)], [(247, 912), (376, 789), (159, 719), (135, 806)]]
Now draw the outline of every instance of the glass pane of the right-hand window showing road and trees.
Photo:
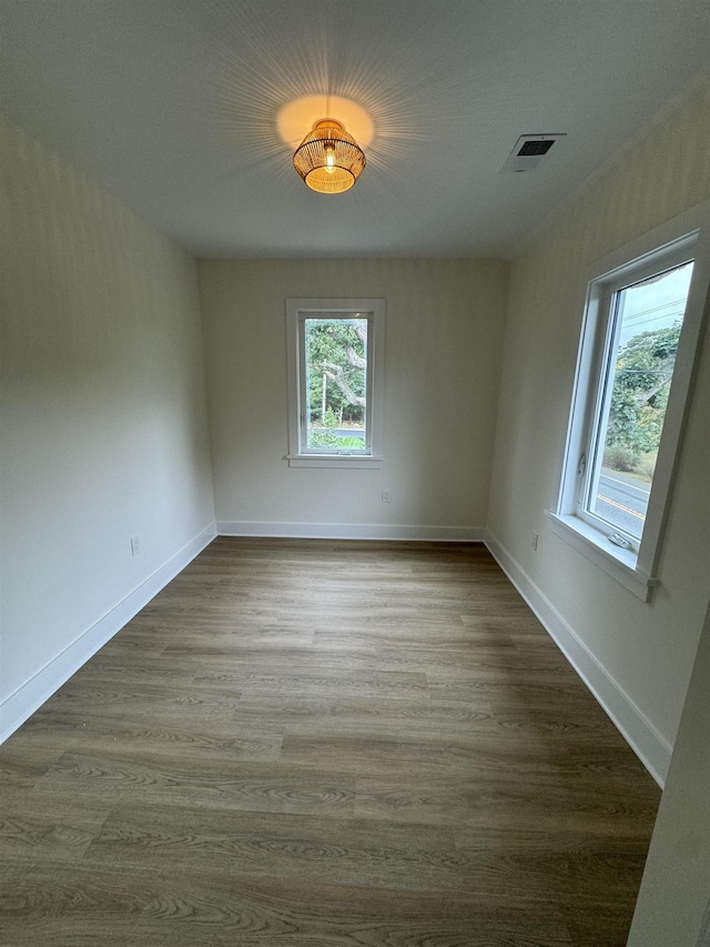
[(589, 511), (641, 538), (692, 262), (613, 295), (613, 346)]

